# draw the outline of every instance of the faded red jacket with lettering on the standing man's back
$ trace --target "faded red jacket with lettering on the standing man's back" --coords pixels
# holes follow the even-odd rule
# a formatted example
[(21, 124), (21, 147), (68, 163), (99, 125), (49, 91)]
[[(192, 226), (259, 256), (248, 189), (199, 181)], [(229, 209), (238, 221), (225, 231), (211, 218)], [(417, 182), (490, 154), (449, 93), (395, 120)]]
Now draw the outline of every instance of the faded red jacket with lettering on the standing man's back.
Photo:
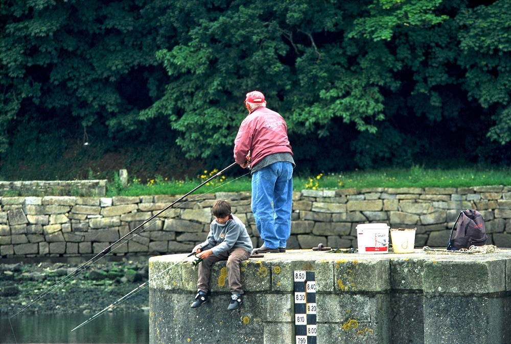
[(238, 164), (246, 161), (248, 151), (252, 167), (270, 154), (293, 155), (287, 136), (287, 124), (280, 114), (260, 107), (250, 112), (241, 122), (234, 141), (234, 159)]

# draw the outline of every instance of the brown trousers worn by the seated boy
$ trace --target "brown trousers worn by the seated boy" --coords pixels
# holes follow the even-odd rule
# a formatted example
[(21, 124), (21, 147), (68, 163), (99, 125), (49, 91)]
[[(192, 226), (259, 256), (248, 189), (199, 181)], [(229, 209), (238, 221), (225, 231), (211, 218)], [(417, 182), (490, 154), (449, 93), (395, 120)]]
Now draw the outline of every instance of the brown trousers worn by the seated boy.
[(197, 290), (207, 292), (209, 290), (211, 265), (220, 260), (227, 260), (227, 280), (229, 281), (230, 292), (233, 294), (243, 294), (241, 288), (240, 262), (250, 258), (250, 252), (237, 247), (222, 252), (218, 256), (210, 255), (199, 264), (199, 279), (197, 280)]

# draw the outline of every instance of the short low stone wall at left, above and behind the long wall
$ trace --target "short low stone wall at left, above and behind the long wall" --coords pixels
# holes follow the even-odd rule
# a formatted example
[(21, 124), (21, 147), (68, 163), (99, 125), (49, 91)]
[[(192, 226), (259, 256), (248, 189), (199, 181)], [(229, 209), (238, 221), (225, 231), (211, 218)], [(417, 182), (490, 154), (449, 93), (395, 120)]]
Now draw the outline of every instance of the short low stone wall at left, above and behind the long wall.
[(0, 181), (0, 196), (21, 195), (75, 195), (101, 197), (106, 194), (107, 180), (71, 181)]

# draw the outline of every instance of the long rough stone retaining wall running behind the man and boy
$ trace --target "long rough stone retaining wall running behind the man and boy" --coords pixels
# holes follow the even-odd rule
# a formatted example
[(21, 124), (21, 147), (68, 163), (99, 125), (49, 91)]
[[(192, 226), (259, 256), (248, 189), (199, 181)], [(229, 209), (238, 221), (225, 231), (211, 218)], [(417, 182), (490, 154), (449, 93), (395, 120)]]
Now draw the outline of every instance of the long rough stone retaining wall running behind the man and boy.
[[(0, 256), (79, 256), (100, 253), (179, 196), (141, 197), (2, 197)], [(417, 228), (415, 247), (445, 247), (457, 215), (477, 209), (483, 215), (488, 243), (511, 247), (511, 186), (470, 188), (369, 188), (293, 194), (289, 249), (319, 243), (357, 247), (356, 226), (387, 223)], [(250, 192), (190, 196), (144, 225), (144, 231), (113, 255), (190, 252), (205, 240), (216, 199), (230, 200), (233, 213), (247, 226), (254, 247), (261, 244), (250, 208)]]

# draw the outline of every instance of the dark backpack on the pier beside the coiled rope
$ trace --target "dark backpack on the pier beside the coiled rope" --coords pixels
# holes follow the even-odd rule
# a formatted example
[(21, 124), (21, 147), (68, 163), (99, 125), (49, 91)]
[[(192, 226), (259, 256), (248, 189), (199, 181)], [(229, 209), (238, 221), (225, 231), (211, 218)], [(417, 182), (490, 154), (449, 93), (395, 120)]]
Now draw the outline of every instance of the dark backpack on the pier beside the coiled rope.
[[(458, 223), (459, 218), (461, 221)], [(456, 224), (458, 223), (458, 227)], [(452, 232), (456, 227), (456, 235), (452, 237)], [(472, 245), (482, 246), (486, 243), (488, 237), (484, 232), (484, 220), (482, 215), (474, 209), (463, 210), (459, 213), (451, 229), (451, 235), (447, 242), (448, 251), (459, 249), (468, 249)]]

